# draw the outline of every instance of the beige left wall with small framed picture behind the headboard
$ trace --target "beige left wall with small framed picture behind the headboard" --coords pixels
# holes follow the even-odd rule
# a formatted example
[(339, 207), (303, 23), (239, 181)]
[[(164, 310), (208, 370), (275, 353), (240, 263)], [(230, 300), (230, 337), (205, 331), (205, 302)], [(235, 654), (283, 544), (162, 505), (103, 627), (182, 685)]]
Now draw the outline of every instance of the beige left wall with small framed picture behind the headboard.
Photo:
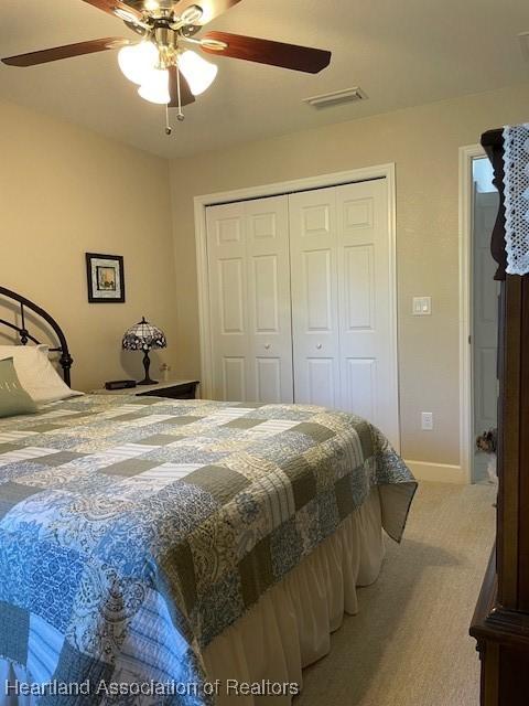
[[(165, 330), (176, 310), (168, 162), (0, 103), (0, 284), (46, 309), (68, 338), (73, 384), (136, 376), (120, 336), (142, 314)], [(85, 253), (125, 256), (127, 302), (88, 304)]]

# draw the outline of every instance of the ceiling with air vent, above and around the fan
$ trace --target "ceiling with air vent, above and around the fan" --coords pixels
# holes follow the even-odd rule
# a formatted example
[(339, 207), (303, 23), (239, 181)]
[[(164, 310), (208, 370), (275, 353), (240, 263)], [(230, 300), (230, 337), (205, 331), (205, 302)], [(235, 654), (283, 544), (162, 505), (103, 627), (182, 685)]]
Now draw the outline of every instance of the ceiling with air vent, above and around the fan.
[[(80, 0), (2, 0), (0, 54), (99, 36), (134, 36)], [(529, 81), (518, 33), (527, 0), (242, 0), (208, 29), (328, 49), (316, 76), (215, 58), (218, 77), (173, 136), (116, 52), (33, 68), (0, 67), (0, 98), (168, 158)], [(208, 57), (212, 58), (212, 57)], [(361, 104), (316, 111), (303, 98), (361, 86)]]

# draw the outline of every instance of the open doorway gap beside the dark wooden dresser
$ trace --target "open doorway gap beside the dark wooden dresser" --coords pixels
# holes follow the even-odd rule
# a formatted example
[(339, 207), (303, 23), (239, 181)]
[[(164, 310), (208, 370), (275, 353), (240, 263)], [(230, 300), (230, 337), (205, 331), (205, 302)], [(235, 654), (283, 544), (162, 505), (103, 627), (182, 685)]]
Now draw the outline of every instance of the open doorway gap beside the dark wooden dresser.
[(472, 414), (471, 478), (474, 483), (494, 475), (490, 454), (476, 450), (479, 435), (497, 426), (497, 335), (499, 282), (494, 280), (496, 264), (490, 255), (490, 235), (499, 207), (493, 184), (493, 168), (486, 157), (472, 160), (472, 238), (471, 238), (471, 343)]

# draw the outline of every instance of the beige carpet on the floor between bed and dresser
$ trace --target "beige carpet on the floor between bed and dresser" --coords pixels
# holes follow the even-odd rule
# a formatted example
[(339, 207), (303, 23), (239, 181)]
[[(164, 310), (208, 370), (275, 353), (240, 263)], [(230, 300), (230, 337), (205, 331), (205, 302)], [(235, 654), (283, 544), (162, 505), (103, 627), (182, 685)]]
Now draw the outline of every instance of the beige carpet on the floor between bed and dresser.
[(477, 706), (468, 637), (494, 542), (492, 485), (421, 483), (400, 546), (388, 541), (360, 612), (304, 672), (294, 706)]

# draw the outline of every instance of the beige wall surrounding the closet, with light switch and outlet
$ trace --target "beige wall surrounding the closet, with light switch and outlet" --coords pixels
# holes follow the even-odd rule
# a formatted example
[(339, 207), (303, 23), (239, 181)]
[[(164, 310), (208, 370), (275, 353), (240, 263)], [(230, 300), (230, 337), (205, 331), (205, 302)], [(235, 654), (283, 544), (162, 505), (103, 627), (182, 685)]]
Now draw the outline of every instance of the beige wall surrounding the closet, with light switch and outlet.
[[(180, 368), (199, 373), (193, 196), (395, 162), (407, 459), (458, 464), (458, 148), (529, 119), (529, 84), (237, 146), (171, 164)], [(433, 315), (411, 315), (413, 296)], [(433, 411), (434, 431), (420, 413)]]

